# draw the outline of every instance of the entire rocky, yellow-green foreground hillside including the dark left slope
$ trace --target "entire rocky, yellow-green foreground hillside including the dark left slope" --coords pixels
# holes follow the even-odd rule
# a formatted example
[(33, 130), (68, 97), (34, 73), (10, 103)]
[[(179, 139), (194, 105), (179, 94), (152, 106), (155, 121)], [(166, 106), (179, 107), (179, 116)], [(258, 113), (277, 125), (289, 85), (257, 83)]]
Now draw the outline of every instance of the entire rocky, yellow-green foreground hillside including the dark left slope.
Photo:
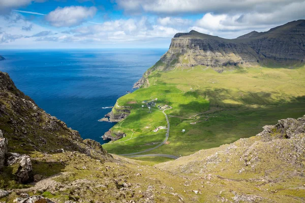
[(0, 110), (1, 202), (305, 200), (305, 117), (280, 120), (255, 137), (163, 162), (111, 156), (97, 142), (82, 140), (2, 72)]

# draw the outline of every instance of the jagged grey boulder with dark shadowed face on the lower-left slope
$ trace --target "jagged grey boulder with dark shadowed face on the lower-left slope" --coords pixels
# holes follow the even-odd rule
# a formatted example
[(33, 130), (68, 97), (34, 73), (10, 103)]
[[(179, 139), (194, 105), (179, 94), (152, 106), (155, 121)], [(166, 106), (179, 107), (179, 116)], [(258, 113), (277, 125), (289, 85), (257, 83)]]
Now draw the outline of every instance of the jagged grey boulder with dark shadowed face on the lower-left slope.
[(32, 178), (32, 162), (31, 158), (28, 155), (20, 155), (17, 153), (8, 153), (7, 155), (7, 164), (19, 164), (18, 170), (15, 173), (17, 176), (18, 182), (27, 183), (31, 181)]

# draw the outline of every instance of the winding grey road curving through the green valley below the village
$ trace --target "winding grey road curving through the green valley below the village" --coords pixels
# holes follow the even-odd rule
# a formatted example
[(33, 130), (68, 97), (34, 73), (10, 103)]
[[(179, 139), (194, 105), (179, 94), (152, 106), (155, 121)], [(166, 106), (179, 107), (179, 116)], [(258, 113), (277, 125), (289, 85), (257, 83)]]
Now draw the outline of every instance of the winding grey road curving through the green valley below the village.
[[(169, 108), (171, 109), (171, 108)], [(118, 154), (120, 156), (127, 156), (127, 157), (149, 157), (149, 156), (162, 156), (162, 157), (168, 157), (168, 158), (173, 158), (173, 159), (177, 159), (178, 157), (176, 156), (173, 156), (173, 155), (168, 155), (168, 154), (143, 154), (143, 155), (137, 155), (137, 154), (142, 154), (142, 153), (145, 153), (145, 152), (149, 152), (151, 150), (154, 150), (154, 149), (157, 149), (159, 147), (161, 147), (162, 145), (164, 145), (164, 143), (167, 142), (168, 140), (168, 137), (169, 137), (169, 128), (170, 128), (170, 124), (169, 124), (169, 121), (168, 121), (168, 117), (167, 117), (167, 114), (165, 113), (166, 110), (169, 110), (169, 109), (165, 109), (162, 111), (162, 113), (165, 115), (165, 118), (166, 118), (166, 122), (167, 122), (167, 131), (166, 131), (166, 135), (165, 135), (165, 140), (160, 143), (159, 145), (153, 147), (153, 148), (149, 148), (149, 149), (146, 149), (146, 150), (143, 150), (143, 151), (140, 151), (140, 152), (134, 152), (134, 153), (129, 153), (129, 154)]]

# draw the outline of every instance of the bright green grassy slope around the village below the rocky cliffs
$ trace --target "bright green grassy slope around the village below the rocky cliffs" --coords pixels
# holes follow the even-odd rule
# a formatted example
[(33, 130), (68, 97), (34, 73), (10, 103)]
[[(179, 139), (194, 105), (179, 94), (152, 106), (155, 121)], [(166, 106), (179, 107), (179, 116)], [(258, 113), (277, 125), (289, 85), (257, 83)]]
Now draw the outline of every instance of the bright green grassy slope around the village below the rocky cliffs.
[[(141, 151), (164, 140), (165, 131), (152, 132), (155, 126), (166, 124), (164, 115), (158, 110), (147, 113), (146, 108), (141, 108), (143, 100), (156, 97), (158, 104), (173, 107), (166, 113), (176, 117), (169, 118), (169, 144), (149, 153), (189, 155), (254, 136), (263, 125), (305, 113), (305, 67), (240, 67), (219, 74), (198, 65), (155, 71), (148, 79), (148, 88), (118, 99), (119, 105), (133, 106), (133, 110), (127, 119), (114, 126), (127, 132), (127, 137), (103, 145), (110, 153)], [(130, 101), (136, 104), (128, 104)]]

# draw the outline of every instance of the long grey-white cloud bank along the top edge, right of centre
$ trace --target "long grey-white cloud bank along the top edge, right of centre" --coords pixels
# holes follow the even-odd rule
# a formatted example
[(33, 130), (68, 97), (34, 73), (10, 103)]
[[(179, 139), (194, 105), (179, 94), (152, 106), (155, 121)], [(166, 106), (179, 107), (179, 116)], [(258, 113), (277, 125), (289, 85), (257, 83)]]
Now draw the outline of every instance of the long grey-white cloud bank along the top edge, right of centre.
[(126, 12), (153, 12), (162, 14), (225, 13), (236, 11), (271, 11), (304, 0), (116, 0)]

